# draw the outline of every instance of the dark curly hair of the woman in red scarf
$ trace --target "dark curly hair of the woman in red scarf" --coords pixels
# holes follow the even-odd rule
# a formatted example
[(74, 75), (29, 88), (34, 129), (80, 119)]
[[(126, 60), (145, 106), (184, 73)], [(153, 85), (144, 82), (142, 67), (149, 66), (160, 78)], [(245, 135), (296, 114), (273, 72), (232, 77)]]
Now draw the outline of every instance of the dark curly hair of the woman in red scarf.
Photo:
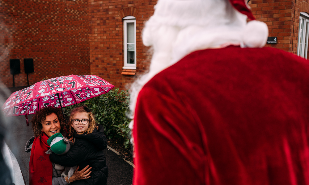
[(42, 123), (45, 121), (46, 116), (52, 113), (55, 113), (58, 117), (58, 120), (61, 126), (60, 132), (63, 132), (64, 130), (66, 130), (66, 120), (64, 119), (62, 115), (61, 109), (56, 108), (56, 107), (44, 107), (41, 110), (37, 111), (31, 120), (32, 130), (36, 137), (41, 136)]

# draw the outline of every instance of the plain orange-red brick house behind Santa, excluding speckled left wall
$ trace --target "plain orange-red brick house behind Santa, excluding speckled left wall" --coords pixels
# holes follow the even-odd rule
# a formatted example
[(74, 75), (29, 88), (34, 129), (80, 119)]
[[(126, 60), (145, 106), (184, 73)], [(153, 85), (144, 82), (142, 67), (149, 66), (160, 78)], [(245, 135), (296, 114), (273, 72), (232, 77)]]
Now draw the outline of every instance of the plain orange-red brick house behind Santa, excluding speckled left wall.
[[(308, 27), (301, 33), (303, 41), (299, 40), (298, 29), (300, 18), (309, 19), (309, 3), (308, 0), (300, 1), (252, 0), (248, 4), (256, 19), (268, 25), (269, 37), (277, 37), (277, 44), (266, 44), (266, 47), (276, 47), (307, 58), (304, 50), (308, 50)], [(89, 1), (91, 74), (110, 79), (117, 87), (125, 88), (135, 76), (147, 70), (150, 52), (142, 44), (141, 32), (144, 22), (153, 14), (155, 4), (156, 0)], [(125, 67), (126, 16), (136, 20), (136, 70)], [(306, 20), (304, 26), (308, 23)]]

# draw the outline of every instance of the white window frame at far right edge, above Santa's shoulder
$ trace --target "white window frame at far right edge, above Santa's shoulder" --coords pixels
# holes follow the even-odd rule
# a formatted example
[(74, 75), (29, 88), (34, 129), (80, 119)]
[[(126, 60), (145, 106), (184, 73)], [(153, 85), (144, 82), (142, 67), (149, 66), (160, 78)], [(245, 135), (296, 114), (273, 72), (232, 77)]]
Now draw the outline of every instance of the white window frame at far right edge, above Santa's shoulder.
[[(304, 24), (304, 31), (302, 31), (302, 28), (301, 28), (302, 23)], [(307, 30), (306, 30), (306, 25), (307, 24), (308, 24), (308, 27), (307, 27)], [(300, 35), (301, 33), (303, 35)], [(308, 36), (309, 36), (309, 15), (307, 13), (305, 13), (305, 12), (301, 12), (300, 16), (299, 16), (297, 55), (300, 56), (300, 57), (303, 57), (305, 59), (307, 59)], [(303, 43), (302, 47), (300, 47), (301, 41)]]

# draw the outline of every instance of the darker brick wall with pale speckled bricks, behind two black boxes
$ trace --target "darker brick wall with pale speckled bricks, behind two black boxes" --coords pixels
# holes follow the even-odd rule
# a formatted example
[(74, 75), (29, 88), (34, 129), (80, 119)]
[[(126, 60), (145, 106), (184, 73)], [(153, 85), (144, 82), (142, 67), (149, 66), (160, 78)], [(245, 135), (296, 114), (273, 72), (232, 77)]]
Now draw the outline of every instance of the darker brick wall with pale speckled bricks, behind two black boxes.
[[(29, 84), (49, 78), (90, 74), (87, 0), (0, 0), (0, 79), (12, 87), (9, 59), (20, 59), (15, 86), (27, 85), (23, 58), (34, 59)], [(7, 50), (9, 51), (9, 50)]]

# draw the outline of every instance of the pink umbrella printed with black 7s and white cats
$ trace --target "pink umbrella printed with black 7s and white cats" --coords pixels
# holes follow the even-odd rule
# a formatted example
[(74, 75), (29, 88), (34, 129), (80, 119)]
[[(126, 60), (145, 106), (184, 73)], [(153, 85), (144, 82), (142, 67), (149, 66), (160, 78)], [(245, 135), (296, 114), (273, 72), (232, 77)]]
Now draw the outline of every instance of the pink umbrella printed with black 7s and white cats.
[(27, 115), (34, 114), (43, 107), (55, 106), (62, 109), (105, 94), (113, 87), (115, 86), (95, 75), (61, 76), (36, 82), (14, 92), (2, 105), (2, 111), (8, 117), (26, 115), (28, 126)]

